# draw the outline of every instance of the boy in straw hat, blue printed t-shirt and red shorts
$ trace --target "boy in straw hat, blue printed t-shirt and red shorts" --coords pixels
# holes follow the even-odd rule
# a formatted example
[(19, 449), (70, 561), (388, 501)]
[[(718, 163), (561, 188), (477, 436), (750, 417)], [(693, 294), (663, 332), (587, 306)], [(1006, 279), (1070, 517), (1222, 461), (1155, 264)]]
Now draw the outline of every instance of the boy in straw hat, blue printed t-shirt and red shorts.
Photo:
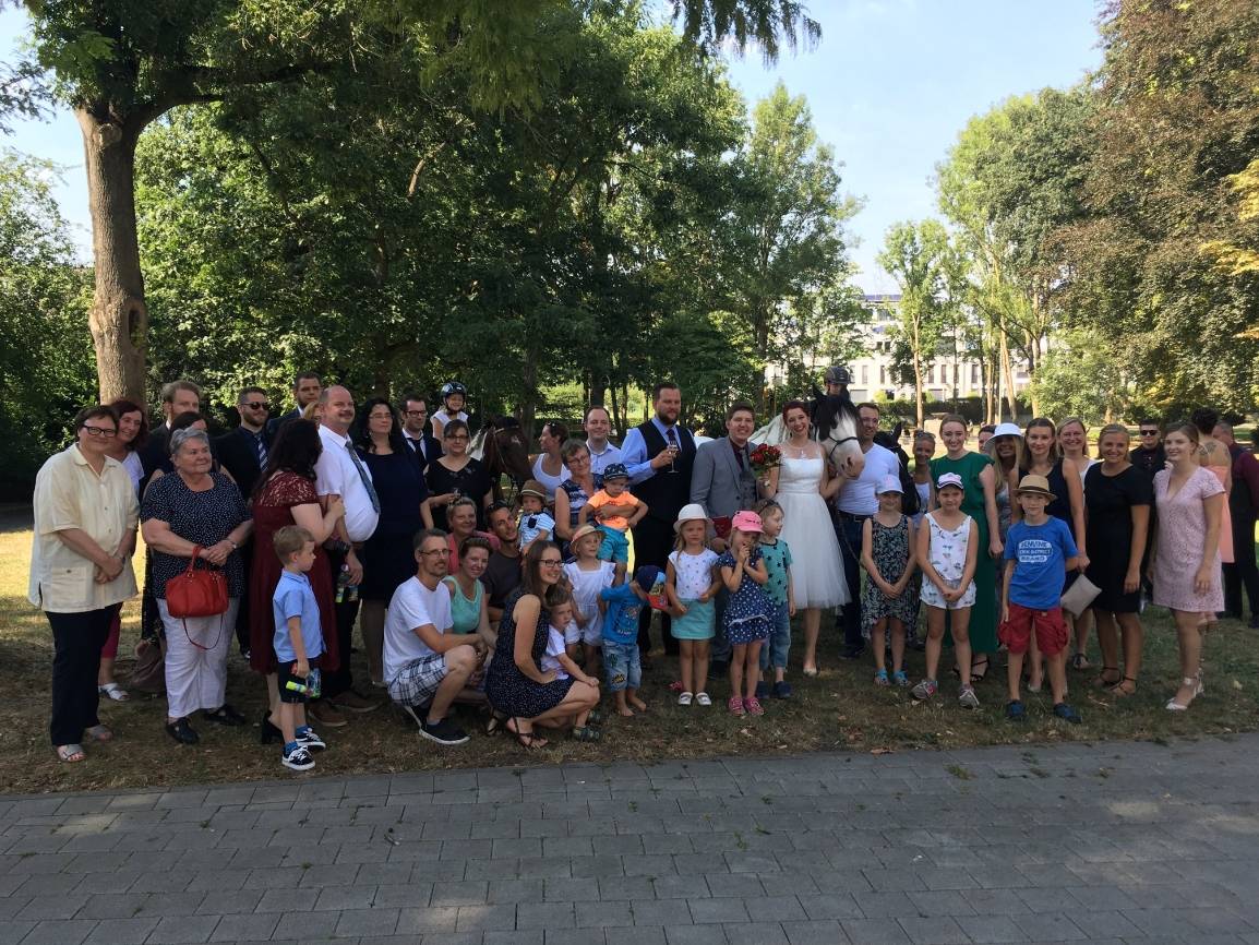
[(1079, 713), (1066, 704), (1066, 624), (1059, 604), (1066, 572), (1076, 566), (1079, 552), (1066, 523), (1045, 514), (1045, 507), (1055, 498), (1045, 476), (1024, 476), (1015, 498), (1024, 518), (1010, 527), (1006, 537), (1006, 573), (997, 633), (1010, 650), (1006, 718), (1022, 722), (1027, 717), (1019, 685), (1022, 682), (1024, 654), (1035, 630), (1036, 645), (1049, 664), (1054, 714), (1079, 724)]

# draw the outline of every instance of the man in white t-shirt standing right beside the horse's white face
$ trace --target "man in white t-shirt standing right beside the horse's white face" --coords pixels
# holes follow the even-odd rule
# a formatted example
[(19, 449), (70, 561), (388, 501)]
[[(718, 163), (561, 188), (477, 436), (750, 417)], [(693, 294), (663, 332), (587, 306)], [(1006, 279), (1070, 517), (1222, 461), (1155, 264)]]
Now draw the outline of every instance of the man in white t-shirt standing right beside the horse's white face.
[(857, 404), (861, 422), (857, 438), (861, 452), (865, 454), (865, 467), (856, 479), (845, 479), (835, 499), (836, 530), (840, 537), (840, 552), (844, 556), (844, 576), (847, 578), (849, 593), (852, 600), (835, 621), (844, 629), (845, 659), (859, 659), (865, 650), (861, 636), (861, 528), (865, 520), (879, 510), (875, 488), (886, 476), (900, 478), (900, 460), (896, 454), (874, 441), (879, 432), (879, 406), (875, 403)]

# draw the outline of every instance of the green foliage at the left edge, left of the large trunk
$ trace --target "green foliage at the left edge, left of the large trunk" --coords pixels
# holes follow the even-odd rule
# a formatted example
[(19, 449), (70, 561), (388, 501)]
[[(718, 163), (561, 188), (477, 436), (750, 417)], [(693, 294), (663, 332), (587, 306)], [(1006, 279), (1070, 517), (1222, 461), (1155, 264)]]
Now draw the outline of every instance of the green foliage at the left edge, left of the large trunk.
[(92, 398), (83, 325), (88, 273), (74, 266), (52, 195), (57, 169), (0, 151), (0, 498), (29, 498), (35, 471)]

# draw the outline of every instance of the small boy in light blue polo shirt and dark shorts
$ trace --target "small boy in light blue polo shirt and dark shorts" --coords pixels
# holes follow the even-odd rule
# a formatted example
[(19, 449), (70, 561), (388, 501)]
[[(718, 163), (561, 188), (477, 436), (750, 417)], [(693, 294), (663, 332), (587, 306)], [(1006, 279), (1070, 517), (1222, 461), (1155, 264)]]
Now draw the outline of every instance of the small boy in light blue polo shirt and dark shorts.
[(319, 689), (319, 663), (324, 633), (319, 601), (306, 573), (315, 566), (315, 537), (300, 525), (276, 532), (272, 544), (285, 570), (271, 597), (276, 635), (276, 675), (279, 684), (279, 731), (285, 736), (281, 764), (293, 771), (315, 767), (312, 748), (325, 748), (324, 740), (306, 724), (306, 701)]

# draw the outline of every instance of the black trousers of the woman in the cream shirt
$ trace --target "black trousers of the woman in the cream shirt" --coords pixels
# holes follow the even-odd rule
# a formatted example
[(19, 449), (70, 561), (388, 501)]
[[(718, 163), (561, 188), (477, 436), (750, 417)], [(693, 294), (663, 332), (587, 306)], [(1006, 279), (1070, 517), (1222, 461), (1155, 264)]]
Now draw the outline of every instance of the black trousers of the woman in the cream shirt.
[(121, 604), (82, 614), (45, 611), (53, 627), (53, 745), (79, 745), (83, 730), (99, 724), (96, 709), (99, 692), (101, 648)]

